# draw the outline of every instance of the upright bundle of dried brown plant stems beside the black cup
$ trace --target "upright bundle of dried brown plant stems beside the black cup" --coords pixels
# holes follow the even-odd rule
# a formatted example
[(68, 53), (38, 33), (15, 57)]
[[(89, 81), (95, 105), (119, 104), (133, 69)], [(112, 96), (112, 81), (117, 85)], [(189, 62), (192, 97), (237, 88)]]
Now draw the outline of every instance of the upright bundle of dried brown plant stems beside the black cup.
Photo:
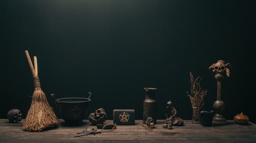
[(202, 77), (199, 76), (194, 79), (193, 74), (190, 72), (190, 82), (191, 82), (191, 93), (187, 92), (187, 96), (190, 98), (192, 108), (193, 108), (193, 117), (196, 117), (196, 120), (199, 120), (199, 111), (203, 108), (203, 98), (207, 95), (207, 89), (203, 90), (200, 85)]

